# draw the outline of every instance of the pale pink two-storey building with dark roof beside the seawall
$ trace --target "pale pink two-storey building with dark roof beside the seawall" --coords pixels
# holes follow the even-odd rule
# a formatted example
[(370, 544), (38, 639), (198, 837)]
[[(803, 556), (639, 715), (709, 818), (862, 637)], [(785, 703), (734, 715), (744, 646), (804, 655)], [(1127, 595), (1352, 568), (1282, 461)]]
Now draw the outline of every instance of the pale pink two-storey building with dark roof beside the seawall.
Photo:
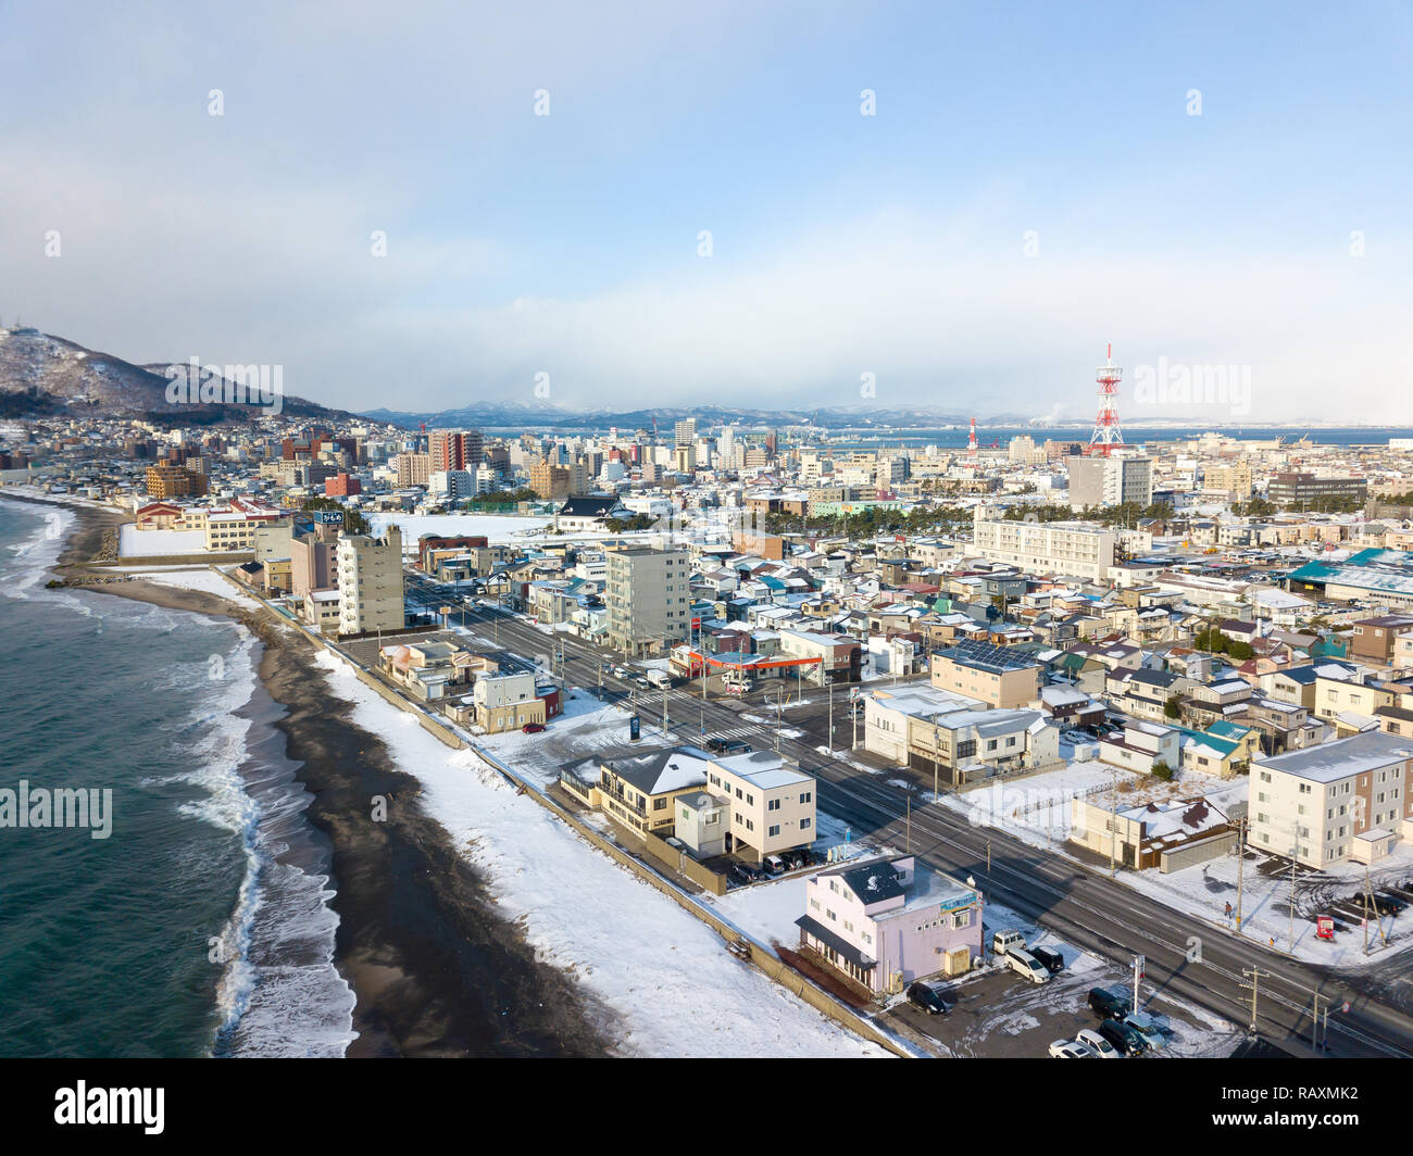
[(911, 855), (812, 875), (800, 943), (875, 992), (928, 975), (961, 975), (982, 955), (982, 897)]

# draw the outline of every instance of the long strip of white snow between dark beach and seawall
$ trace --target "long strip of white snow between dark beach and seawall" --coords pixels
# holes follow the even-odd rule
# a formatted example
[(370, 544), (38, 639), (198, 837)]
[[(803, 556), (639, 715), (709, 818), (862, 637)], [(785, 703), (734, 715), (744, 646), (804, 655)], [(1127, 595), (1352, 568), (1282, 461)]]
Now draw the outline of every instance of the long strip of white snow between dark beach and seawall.
[[(472, 750), (451, 750), (321, 650), (333, 691), (424, 787), (424, 804), (485, 873), (527, 941), (620, 1016), (630, 1056), (882, 1056), (731, 955), (667, 896), (519, 796)], [(588, 721), (592, 712), (581, 718)], [(526, 736), (531, 738), (531, 736)], [(507, 759), (509, 762), (509, 759)]]

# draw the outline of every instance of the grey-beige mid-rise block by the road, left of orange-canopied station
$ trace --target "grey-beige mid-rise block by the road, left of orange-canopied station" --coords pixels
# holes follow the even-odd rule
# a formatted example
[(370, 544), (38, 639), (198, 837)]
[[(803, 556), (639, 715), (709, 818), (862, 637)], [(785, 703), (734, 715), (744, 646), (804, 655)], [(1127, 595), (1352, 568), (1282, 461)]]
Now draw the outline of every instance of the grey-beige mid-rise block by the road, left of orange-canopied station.
[(606, 555), (609, 646), (625, 654), (660, 654), (691, 636), (685, 550), (626, 547)]

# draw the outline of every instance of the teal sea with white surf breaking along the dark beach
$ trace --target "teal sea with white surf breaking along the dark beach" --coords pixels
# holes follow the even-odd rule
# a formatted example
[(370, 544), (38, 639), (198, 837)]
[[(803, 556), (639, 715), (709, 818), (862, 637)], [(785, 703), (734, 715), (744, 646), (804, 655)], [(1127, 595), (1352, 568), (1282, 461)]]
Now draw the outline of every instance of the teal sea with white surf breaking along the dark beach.
[(71, 519), (0, 499), (0, 790), (110, 790), (110, 834), (0, 827), (0, 1056), (342, 1054), (328, 847), (257, 644), (45, 589)]

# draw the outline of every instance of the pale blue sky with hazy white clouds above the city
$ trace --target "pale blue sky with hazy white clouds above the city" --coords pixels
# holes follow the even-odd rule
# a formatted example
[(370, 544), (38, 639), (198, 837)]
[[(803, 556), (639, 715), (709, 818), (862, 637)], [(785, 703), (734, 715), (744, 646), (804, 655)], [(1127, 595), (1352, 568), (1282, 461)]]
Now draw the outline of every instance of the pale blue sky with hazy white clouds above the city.
[(4, 322), (352, 410), (1087, 420), (1112, 341), (1135, 423), (1413, 421), (1406, 4), (201, 7), (0, 0)]

